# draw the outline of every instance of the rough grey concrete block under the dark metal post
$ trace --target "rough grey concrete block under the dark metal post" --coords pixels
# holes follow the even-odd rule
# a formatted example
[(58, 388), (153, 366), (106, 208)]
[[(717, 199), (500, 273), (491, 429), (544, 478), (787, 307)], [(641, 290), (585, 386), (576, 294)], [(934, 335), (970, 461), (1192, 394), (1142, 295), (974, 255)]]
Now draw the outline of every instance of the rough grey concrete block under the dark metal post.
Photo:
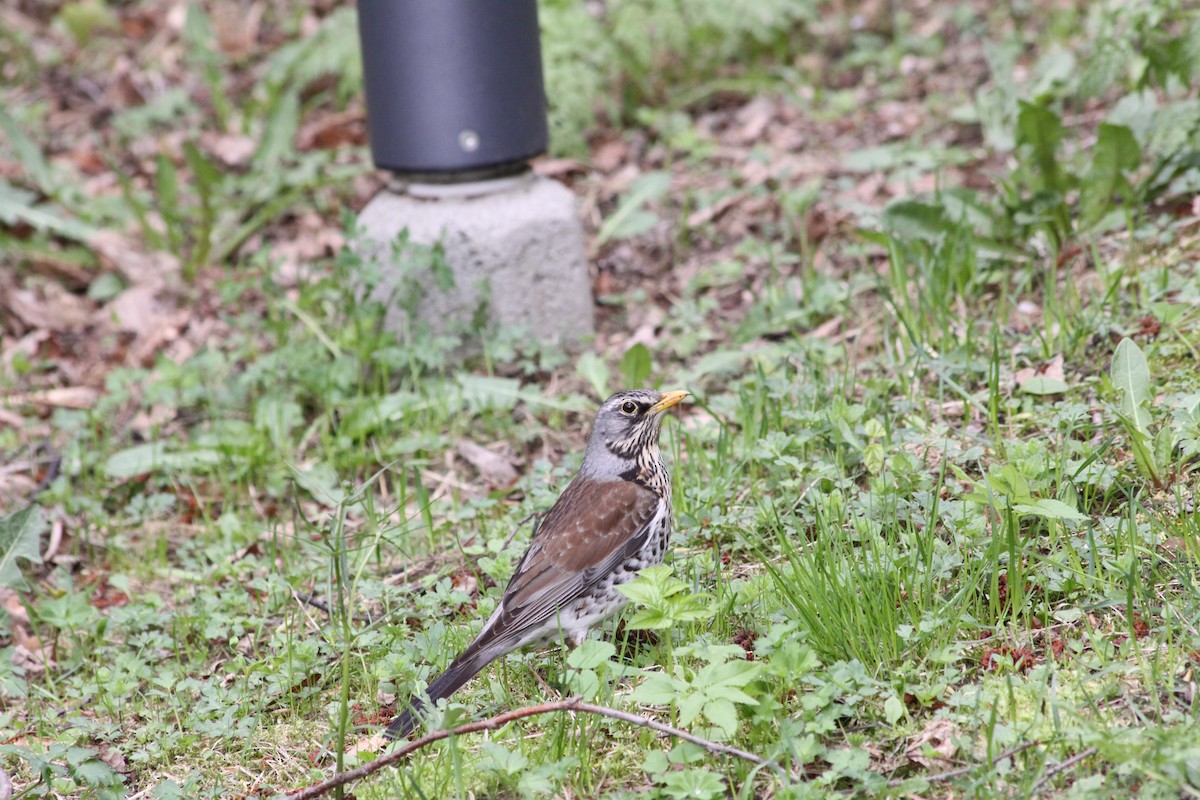
[[(592, 281), (575, 196), (532, 173), (475, 184), (408, 185), (384, 190), (359, 215), (364, 255), (380, 270), (372, 296), (403, 295), (415, 281), (418, 315), (437, 331), (488, 323), (522, 327), (540, 341), (571, 342), (595, 330)], [(392, 242), (402, 230), (420, 245), (442, 243), (454, 288), (413, 275)], [(407, 285), (413, 285), (412, 283)], [(389, 303), (386, 325), (400, 331), (406, 309)]]

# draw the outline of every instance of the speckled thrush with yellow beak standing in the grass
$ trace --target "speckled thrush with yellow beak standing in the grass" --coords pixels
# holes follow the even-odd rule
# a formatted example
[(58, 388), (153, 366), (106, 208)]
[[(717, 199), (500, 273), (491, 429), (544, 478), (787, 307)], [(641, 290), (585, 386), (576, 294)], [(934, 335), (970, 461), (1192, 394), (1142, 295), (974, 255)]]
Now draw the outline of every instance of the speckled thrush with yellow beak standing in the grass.
[[(625, 604), (617, 587), (662, 563), (674, 521), (659, 432), (664, 413), (688, 395), (635, 389), (600, 405), (578, 474), (546, 512), (479, 636), (425, 690), (428, 703), (518, 648), (578, 645)], [(425, 708), (414, 696), (384, 736), (407, 738)]]

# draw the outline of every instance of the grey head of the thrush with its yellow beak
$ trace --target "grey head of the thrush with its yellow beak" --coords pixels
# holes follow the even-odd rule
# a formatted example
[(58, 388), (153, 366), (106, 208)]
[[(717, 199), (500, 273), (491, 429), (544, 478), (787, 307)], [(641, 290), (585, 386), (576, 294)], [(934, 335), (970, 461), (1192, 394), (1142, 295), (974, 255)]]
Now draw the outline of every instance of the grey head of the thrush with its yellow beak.
[(688, 392), (634, 389), (617, 392), (600, 405), (583, 456), (582, 471), (599, 480), (616, 480), (638, 467), (638, 456), (658, 456), (662, 414)]

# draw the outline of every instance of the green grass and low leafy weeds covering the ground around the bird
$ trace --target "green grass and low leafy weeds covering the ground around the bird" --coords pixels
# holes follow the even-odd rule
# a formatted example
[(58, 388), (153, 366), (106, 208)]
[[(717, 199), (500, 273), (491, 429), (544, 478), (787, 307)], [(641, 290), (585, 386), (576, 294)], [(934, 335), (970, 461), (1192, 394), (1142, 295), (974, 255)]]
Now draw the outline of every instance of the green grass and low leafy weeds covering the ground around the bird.
[[(580, 357), (492, 331), (462, 362), (480, 331), (388, 333), (354, 288), (372, 265), (352, 249), (288, 282), (270, 246), (284, 211), (335, 216), (364, 170), (361, 150), (290, 144), (305, 103), (353, 94), (319, 80), (344, 56), (341, 12), (312, 38), (276, 20), (292, 38), (248, 95), (191, 12), (182, 53), (212, 101), (186, 113), (262, 134), (241, 170), (184, 146), (155, 156), (154, 181), (91, 203), (40, 155), (43, 109), (6, 107), (2, 152), (22, 178), (0, 184), (0, 247), (14, 273), (36, 278), (44, 252), (96, 271), (90, 229), (131, 230), (178, 258), (182, 291), (218, 307), (221, 331), (179, 363), (109, 369), (91, 409), (4, 405), (61, 456), (17, 504), (36, 513), (0, 519), (13, 593), (0, 766), (18, 796), (275, 796), (370, 760), (362, 741), (396, 699), (494, 607), (604, 391), (640, 383), (695, 398), (664, 431), (670, 572), (640, 584), (622, 632), (514, 654), (431, 724), (578, 693), (792, 780), (581, 714), (450, 739), (355, 796), (1200, 794), (1200, 251), (1180, 212), (1200, 182), (1200, 22), (1166, 1), (1057, 10), (1038, 26), (1016, 7), (947, 8), (989, 47), (988, 83), (955, 112), (980, 144), (913, 137), (776, 187), (739, 182), (697, 120), (764, 91), (836, 124), (854, 112), (844, 80), (906, 96), (902, 56), (940, 62), (964, 42), (923, 38), (902, 10), (889, 30), (854, 32), (803, 4), (718, 5), (654, 2), (643, 28), (634, 4), (604, 19), (544, 8), (550, 32), (580, 32), (547, 46), (550, 83), (588, 101), (556, 110), (566, 140), (584, 146), (599, 104), (624, 126), (610, 134), (668, 154), (593, 231), (604, 253), (638, 254), (662, 225), (654, 242), (673, 242), (676, 266), (700, 261), (653, 348)], [(706, 14), (685, 25), (692, 6)], [(787, 49), (830, 30), (823, 66)], [(930, 119), (950, 113), (937, 92), (924, 103)], [(115, 130), (132, 142), (170, 119), (150, 104)], [(950, 168), (976, 162), (990, 185), (953, 184)], [(695, 182), (676, 194), (660, 172)], [(882, 209), (847, 199), (876, 173), (937, 188)], [(688, 219), (725, 190), (782, 211), (721, 241)], [(818, 205), (841, 222), (810, 239)], [(642, 288), (623, 305), (644, 303)], [(814, 333), (832, 321), (835, 335)], [(0, 389), (26, 392), (53, 368), (18, 354)], [(462, 439), (506, 449), (516, 483), (456, 456)], [(0, 447), (34, 452), (11, 427)], [(52, 525), (66, 535), (40, 564)]]

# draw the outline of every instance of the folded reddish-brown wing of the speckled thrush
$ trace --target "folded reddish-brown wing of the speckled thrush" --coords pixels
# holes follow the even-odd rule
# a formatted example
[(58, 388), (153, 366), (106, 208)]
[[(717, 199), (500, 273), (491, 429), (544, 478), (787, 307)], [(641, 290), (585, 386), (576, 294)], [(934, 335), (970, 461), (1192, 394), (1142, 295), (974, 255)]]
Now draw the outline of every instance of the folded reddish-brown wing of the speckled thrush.
[(658, 505), (632, 481), (571, 481), (509, 581), (497, 628), (540, 625), (580, 597), (642, 547)]

